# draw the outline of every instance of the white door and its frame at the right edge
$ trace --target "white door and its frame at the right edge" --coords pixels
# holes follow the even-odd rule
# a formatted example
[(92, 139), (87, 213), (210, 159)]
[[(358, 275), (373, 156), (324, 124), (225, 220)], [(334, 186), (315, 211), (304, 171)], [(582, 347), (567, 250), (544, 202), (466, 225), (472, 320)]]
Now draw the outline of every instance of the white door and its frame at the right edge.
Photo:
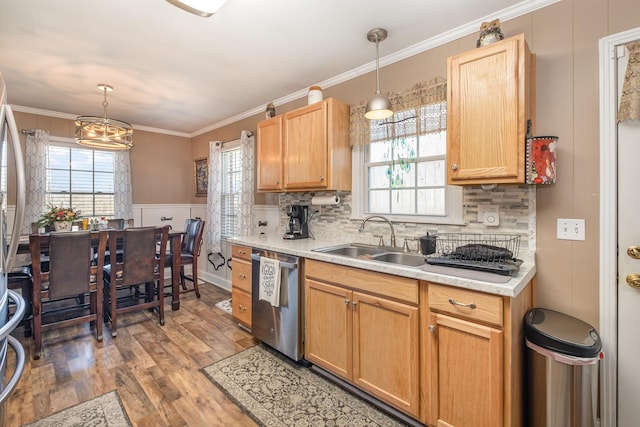
[[(600, 40), (600, 334), (602, 427), (640, 425), (640, 123), (616, 123), (628, 52), (640, 27)], [(633, 252), (633, 250), (631, 251)]]

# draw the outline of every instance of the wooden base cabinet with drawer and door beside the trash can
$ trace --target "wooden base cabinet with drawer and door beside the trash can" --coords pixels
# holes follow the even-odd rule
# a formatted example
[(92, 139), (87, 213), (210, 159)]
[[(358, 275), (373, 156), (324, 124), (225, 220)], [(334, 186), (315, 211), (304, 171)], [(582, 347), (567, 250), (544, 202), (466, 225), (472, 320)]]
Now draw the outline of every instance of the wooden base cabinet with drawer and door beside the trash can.
[(435, 283), (422, 286), (426, 423), (521, 426), (522, 322), (532, 305), (530, 286), (515, 299)]

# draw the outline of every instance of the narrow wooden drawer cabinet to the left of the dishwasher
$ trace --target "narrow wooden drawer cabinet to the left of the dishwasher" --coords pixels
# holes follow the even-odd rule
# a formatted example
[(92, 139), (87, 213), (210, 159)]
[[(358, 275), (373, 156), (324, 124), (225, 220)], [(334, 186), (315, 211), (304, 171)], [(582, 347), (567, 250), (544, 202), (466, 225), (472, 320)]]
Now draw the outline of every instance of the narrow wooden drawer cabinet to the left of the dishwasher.
[(251, 329), (251, 248), (233, 245), (231, 312), (233, 318)]

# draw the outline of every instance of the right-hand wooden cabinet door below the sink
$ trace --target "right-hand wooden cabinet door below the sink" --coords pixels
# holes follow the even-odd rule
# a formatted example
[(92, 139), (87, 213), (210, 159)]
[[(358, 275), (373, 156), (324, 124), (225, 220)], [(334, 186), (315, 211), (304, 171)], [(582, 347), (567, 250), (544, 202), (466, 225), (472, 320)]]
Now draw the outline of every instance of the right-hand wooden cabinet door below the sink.
[(352, 309), (354, 384), (418, 416), (418, 308), (354, 292)]

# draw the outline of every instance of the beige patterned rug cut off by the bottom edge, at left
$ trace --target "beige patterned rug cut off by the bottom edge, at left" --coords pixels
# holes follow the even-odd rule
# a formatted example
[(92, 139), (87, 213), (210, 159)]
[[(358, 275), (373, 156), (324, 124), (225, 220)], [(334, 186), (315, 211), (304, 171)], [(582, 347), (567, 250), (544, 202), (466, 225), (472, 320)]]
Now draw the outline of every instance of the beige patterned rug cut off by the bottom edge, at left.
[(131, 427), (118, 393), (98, 396), (88, 402), (63, 409), (47, 418), (27, 424), (27, 427)]

